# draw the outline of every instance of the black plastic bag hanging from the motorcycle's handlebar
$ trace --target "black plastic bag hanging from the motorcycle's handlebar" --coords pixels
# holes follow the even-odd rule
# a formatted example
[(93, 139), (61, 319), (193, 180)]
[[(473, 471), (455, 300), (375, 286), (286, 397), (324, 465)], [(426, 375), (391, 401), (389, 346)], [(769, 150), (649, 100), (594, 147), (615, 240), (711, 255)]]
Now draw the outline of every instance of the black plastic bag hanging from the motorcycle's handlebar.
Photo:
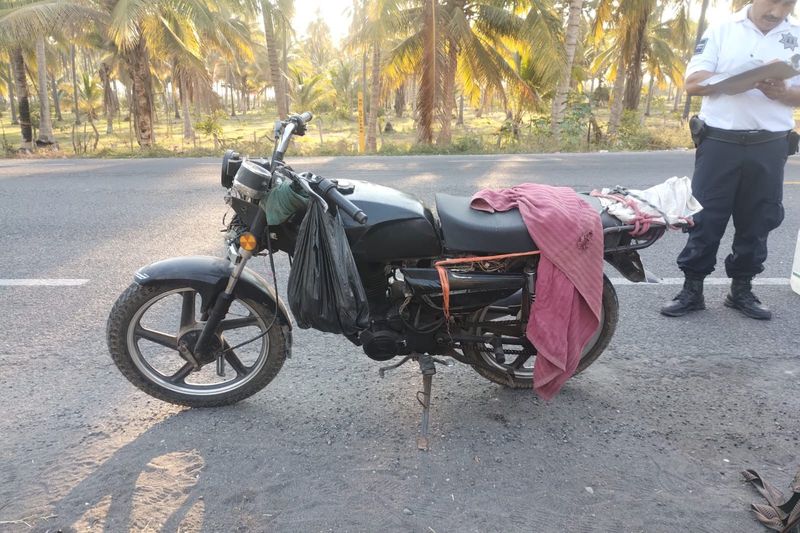
[(369, 325), (369, 308), (338, 217), (312, 200), (300, 225), (289, 273), (289, 307), (301, 328), (352, 335)]

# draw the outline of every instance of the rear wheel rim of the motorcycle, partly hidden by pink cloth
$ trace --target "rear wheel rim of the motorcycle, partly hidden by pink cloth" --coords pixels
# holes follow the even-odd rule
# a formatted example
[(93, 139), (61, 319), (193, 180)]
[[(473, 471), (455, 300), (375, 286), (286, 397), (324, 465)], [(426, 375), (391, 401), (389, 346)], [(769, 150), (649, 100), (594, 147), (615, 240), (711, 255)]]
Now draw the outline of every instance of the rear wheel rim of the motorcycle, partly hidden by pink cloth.
[[(476, 312), (474, 315), (474, 322), (475, 323), (483, 323), (483, 322), (493, 322), (497, 321), (498, 323), (502, 323), (509, 320), (519, 321), (519, 314), (516, 317), (512, 317), (511, 315), (502, 315), (502, 316), (490, 316), (490, 307), (484, 307), (480, 311)], [(487, 320), (487, 316), (489, 316)], [(594, 332), (592, 337), (589, 339), (589, 342), (586, 343), (586, 347), (581, 352), (581, 359), (586, 357), (586, 355), (592, 350), (592, 348), (597, 344), (600, 336), (603, 332), (603, 324), (605, 322), (605, 310), (601, 307), (600, 310), (600, 322), (597, 326), (597, 331)], [(476, 327), (473, 332), (471, 333), (476, 336), (491, 336), (491, 332), (487, 330), (487, 328), (483, 327)], [(519, 346), (519, 345), (510, 345), (504, 344), (503, 350), (506, 352), (506, 361), (505, 363), (499, 363), (495, 358), (493, 346), (490, 342), (486, 342), (481, 346), (476, 346), (476, 351), (478, 352), (479, 357), (485, 363), (485, 366), (494, 368), (501, 372), (504, 372), (509, 375), (513, 375), (514, 378), (520, 380), (533, 380), (533, 366), (536, 361), (536, 356), (533, 354), (530, 348)], [(515, 351), (522, 351), (521, 354), (515, 354)]]

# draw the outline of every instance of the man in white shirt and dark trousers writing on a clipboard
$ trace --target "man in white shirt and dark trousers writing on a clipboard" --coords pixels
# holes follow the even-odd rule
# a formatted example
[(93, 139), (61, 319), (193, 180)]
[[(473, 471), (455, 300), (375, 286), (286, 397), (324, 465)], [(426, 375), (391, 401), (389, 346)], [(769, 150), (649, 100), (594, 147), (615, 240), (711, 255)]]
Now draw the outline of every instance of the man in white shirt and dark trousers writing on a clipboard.
[[(797, 0), (753, 0), (731, 20), (711, 26), (686, 67), (686, 92), (703, 96), (694, 124), (692, 192), (703, 205), (678, 256), (683, 290), (661, 309), (683, 316), (705, 309), (703, 279), (714, 271), (717, 249), (733, 216), (735, 234), (725, 270), (732, 278), (725, 305), (769, 320), (772, 312), (753, 294), (764, 270), (767, 235), (783, 221), (783, 167), (792, 150), (793, 107), (800, 106), (800, 77), (753, 82), (723, 94), (704, 80), (751, 61), (791, 60), (800, 53), (800, 26), (789, 20)], [(792, 151), (792, 153), (794, 153)]]

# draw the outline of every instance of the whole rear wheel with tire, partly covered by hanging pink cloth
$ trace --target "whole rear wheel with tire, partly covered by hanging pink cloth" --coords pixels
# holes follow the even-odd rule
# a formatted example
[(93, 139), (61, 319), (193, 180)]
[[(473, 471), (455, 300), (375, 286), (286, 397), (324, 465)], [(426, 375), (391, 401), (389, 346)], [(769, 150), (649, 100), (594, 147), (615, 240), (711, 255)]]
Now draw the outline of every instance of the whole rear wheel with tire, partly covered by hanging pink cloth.
[[(619, 318), (617, 292), (606, 276), (603, 276), (602, 303), (600, 325), (592, 338), (589, 339), (586, 348), (584, 348), (575, 374), (585, 370), (600, 357), (600, 354), (603, 353), (603, 350), (611, 341), (611, 337), (617, 327)], [(499, 315), (494, 313), (491, 307), (478, 311), (472, 322), (476, 325), (469, 329), (469, 334), (487, 338), (501, 334), (508, 336), (509, 327), (513, 328), (515, 324), (517, 328), (521, 327), (518, 316)], [(513, 389), (532, 388), (535, 379), (533, 375), (533, 365), (536, 360), (534, 351), (530, 346), (508, 344), (503, 345), (503, 351), (505, 352), (506, 360), (500, 362), (495, 356), (494, 346), (488, 340), (483, 344), (464, 346), (464, 355), (470, 361), (474, 361), (473, 368), (481, 376)]]

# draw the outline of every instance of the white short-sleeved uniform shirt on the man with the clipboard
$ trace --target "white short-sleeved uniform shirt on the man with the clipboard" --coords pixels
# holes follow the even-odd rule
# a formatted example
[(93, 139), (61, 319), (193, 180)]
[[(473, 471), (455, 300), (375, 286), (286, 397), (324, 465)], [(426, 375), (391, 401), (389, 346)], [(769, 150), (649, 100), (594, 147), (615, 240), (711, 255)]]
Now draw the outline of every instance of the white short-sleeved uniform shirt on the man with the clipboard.
[[(784, 20), (764, 35), (747, 18), (749, 9), (747, 6), (730, 20), (706, 30), (686, 66), (686, 77), (701, 70), (730, 72), (753, 60), (767, 63), (774, 59), (787, 60), (800, 53), (797, 23)], [(800, 86), (800, 76), (787, 83)], [(734, 95), (704, 96), (699, 116), (709, 126), (726, 130), (786, 131), (795, 126), (792, 113), (792, 107), (767, 98), (758, 89), (751, 89)]]

